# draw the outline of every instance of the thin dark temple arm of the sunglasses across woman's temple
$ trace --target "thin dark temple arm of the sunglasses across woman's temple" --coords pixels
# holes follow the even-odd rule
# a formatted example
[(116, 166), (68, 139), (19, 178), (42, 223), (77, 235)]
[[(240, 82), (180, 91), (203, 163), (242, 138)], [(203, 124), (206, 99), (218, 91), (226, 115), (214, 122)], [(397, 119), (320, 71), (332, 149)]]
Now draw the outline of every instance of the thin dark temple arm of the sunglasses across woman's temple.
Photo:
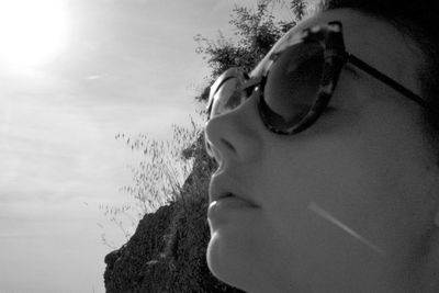
[(389, 87), (391, 87), (391, 88), (395, 89), (396, 91), (401, 92), (402, 94), (406, 95), (412, 101), (415, 101), (418, 104), (420, 104), (421, 106), (427, 108), (427, 103), (423, 98), (420, 98), (413, 91), (408, 90), (407, 88), (401, 86), (398, 82), (396, 82), (392, 78), (380, 72), (379, 70), (371, 67), (370, 65), (362, 61), (361, 59), (353, 56), (352, 54), (347, 53), (347, 61), (354, 65), (356, 67), (360, 68), (361, 70), (368, 72), (369, 75), (373, 76), (374, 78), (381, 80), (382, 82), (386, 83)]

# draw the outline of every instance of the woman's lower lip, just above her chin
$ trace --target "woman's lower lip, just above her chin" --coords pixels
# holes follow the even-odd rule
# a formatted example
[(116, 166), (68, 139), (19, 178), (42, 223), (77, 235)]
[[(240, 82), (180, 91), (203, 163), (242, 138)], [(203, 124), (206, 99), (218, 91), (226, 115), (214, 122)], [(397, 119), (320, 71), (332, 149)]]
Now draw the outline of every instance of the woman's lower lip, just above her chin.
[(255, 210), (256, 205), (249, 203), (245, 200), (241, 200), (236, 196), (227, 196), (221, 200), (214, 201), (209, 205), (207, 217), (216, 217), (229, 213), (244, 212), (246, 210)]

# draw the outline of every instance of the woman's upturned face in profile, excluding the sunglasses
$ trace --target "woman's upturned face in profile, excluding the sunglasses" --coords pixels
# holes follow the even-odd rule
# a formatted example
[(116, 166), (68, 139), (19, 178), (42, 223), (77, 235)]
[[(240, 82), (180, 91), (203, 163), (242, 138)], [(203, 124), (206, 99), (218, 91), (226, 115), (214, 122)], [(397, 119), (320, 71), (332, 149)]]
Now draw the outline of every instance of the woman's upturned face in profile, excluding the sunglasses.
[[(334, 20), (348, 52), (419, 92), (421, 57), (385, 22), (335, 10), (289, 34)], [(437, 191), (420, 106), (348, 66), (330, 106), (290, 136), (266, 128), (252, 98), (207, 123), (219, 165), (207, 261), (218, 279), (250, 292), (389, 292), (416, 268)]]

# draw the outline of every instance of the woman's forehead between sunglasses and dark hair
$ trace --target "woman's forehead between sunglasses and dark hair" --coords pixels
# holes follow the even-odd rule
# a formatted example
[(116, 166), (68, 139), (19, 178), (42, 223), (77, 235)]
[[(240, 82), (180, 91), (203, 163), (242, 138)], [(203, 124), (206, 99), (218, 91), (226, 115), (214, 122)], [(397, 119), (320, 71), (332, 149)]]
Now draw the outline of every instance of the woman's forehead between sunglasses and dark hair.
[[(414, 77), (423, 55), (416, 43), (390, 22), (351, 9), (320, 12), (300, 22), (273, 46), (270, 53), (277, 52), (280, 44), (302, 30), (330, 21), (342, 23), (345, 45), (349, 53), (396, 79), (399, 83), (412, 89), (418, 88), (419, 84)], [(263, 64), (266, 63), (262, 61), (261, 65)], [(254, 74), (258, 74), (262, 69), (260, 67), (257, 67)]]

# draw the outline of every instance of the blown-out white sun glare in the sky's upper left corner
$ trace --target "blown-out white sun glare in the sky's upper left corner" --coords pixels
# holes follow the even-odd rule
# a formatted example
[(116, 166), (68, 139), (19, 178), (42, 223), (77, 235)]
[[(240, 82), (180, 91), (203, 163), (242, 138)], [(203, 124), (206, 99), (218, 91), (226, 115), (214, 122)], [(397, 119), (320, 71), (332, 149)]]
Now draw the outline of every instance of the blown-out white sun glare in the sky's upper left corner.
[(63, 0), (0, 0), (0, 61), (32, 67), (52, 58), (66, 42)]

